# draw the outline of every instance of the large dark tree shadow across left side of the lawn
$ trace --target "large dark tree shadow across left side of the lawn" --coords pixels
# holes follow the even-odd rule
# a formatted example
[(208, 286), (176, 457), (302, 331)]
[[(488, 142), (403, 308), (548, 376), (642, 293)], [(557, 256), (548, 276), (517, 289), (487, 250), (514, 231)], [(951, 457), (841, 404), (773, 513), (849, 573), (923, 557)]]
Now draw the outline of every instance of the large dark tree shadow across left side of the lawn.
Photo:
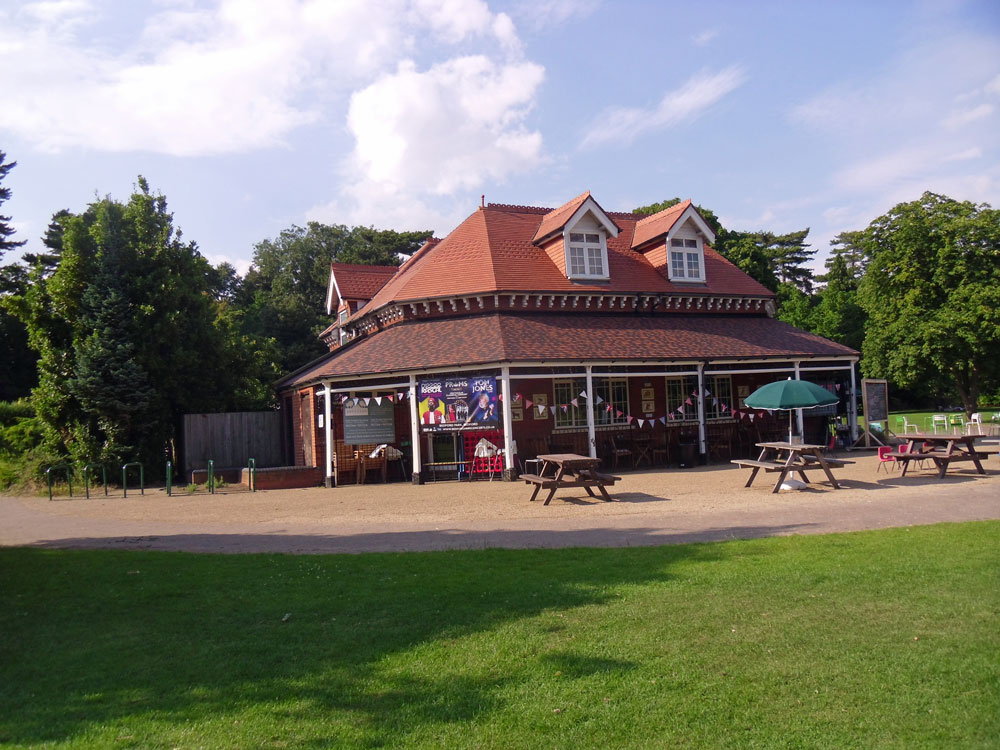
[[(153, 732), (145, 741), (160, 745), (199, 723), (220, 732), (207, 745), (255, 744), (256, 734), (220, 728), (254, 721), (308, 725), (306, 734), (318, 721), (322, 740), (299, 746), (392, 744), (428, 723), (501, 710), (509, 684), (533, 670), (631, 669), (582, 643), (513, 661), (505, 651), (555, 637), (538, 618), (546, 610), (603, 604), (616, 587), (667, 581), (676, 564), (717, 554), (0, 549), (0, 744), (107, 741), (110, 731), (134, 734), (133, 745)], [(466, 664), (463, 639), (487, 631), (495, 656)]]

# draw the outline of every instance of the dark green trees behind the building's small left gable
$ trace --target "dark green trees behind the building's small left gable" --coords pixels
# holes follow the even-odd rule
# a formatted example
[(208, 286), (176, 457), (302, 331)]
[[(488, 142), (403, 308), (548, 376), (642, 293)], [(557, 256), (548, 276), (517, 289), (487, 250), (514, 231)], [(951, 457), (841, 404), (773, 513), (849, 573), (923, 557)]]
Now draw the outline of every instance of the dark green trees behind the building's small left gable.
[(309, 222), (258, 242), (235, 293), (244, 330), (276, 342), (281, 371), (301, 367), (326, 351), (318, 334), (331, 322), (323, 306), (330, 263), (398, 265), (430, 235)]

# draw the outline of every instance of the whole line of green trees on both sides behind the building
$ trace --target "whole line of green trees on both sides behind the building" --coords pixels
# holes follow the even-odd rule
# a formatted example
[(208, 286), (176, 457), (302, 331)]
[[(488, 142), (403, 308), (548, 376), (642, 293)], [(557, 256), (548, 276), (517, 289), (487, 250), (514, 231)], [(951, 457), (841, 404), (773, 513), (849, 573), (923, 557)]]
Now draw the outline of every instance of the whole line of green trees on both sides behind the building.
[[(15, 165), (0, 152), (0, 208)], [(698, 208), (715, 249), (776, 293), (779, 318), (859, 349), (866, 375), (954, 390), (967, 411), (1000, 389), (1000, 214), (988, 205), (925, 193), (840, 234), (819, 275), (808, 228), (730, 230)], [(0, 215), (0, 261), (25, 244), (10, 222)], [(430, 234), (309, 222), (258, 242), (241, 276), (185, 240), (140, 177), (127, 201), (56, 212), (37, 252), (0, 266), (0, 402), (30, 395), (50, 456), (162, 462), (180, 415), (272, 407), (273, 383), (324, 353), (331, 261), (396, 265)]]

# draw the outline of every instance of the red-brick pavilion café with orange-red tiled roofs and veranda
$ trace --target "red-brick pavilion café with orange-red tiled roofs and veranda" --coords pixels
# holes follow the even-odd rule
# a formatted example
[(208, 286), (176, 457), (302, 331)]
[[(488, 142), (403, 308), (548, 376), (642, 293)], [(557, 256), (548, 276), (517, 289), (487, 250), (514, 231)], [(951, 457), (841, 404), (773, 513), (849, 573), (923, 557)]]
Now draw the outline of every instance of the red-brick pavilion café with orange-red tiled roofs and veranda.
[(467, 469), (484, 437), (508, 477), (553, 450), (728, 459), (787, 431), (742, 399), (800, 376), (840, 392), (856, 429), (858, 352), (776, 320), (714, 239), (690, 200), (639, 216), (587, 192), (483, 205), (398, 268), (333, 264), (330, 353), (279, 383), (296, 463), (344, 481), (355, 446), (391, 443), (422, 481)]

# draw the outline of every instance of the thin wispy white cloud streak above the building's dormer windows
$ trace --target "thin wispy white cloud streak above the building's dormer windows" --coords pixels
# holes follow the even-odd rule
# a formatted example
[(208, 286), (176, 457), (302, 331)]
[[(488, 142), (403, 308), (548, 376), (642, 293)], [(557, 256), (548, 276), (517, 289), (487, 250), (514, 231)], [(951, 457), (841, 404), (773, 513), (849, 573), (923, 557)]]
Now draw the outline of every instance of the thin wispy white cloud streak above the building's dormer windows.
[(598, 124), (587, 131), (580, 146), (594, 148), (606, 143), (627, 144), (644, 133), (690, 122), (745, 81), (746, 74), (739, 66), (730, 66), (717, 73), (698, 73), (680, 88), (664, 94), (655, 107), (605, 110), (595, 118)]

